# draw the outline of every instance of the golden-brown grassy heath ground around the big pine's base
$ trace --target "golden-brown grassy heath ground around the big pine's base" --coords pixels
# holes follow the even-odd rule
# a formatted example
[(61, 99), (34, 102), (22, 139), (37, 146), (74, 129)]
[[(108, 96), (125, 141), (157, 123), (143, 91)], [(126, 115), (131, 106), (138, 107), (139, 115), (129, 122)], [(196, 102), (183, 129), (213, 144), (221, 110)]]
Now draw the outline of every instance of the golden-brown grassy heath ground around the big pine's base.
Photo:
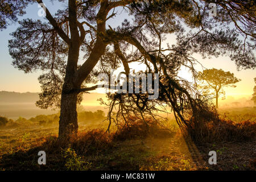
[[(241, 113), (239, 112), (241, 111)], [(221, 117), (255, 122), (255, 107), (221, 110)], [(89, 113), (89, 115), (96, 113)], [(256, 140), (193, 142), (184, 137), (173, 119), (168, 130), (105, 133), (102, 113), (94, 118), (79, 114), (79, 136), (69, 146), (57, 143), (57, 114), (9, 121), (0, 129), (1, 170), (255, 170)], [(98, 117), (98, 118), (97, 118)], [(239, 121), (238, 121), (239, 120)], [(128, 134), (129, 133), (129, 134)], [(255, 136), (255, 131), (254, 131)], [(47, 164), (38, 164), (45, 151)], [(209, 165), (209, 151), (217, 165)]]

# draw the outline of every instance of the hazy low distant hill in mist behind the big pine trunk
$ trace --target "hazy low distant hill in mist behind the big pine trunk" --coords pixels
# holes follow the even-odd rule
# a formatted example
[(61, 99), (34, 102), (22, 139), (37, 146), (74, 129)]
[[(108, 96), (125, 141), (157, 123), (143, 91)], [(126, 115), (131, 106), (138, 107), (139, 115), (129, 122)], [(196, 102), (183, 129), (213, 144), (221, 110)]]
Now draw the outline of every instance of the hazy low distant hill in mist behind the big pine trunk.
[[(31, 118), (40, 114), (53, 114), (59, 110), (40, 109), (35, 102), (39, 99), (39, 93), (19, 93), (0, 91), (0, 115), (16, 119), (19, 117)], [(98, 98), (105, 98), (105, 94), (88, 93), (84, 94), (84, 101), (79, 107), (80, 110), (96, 111), (98, 109), (106, 111), (97, 101)]]

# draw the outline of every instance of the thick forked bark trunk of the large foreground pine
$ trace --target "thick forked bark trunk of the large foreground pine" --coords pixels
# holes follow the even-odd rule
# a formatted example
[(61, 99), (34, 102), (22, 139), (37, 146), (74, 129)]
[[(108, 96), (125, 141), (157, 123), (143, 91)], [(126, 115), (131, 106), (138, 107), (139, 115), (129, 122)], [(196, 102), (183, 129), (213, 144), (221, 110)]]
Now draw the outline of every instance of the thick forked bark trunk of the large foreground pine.
[[(106, 43), (104, 43), (101, 38), (98, 38), (94, 45), (90, 56), (86, 60), (86, 64), (83, 64), (80, 68), (80, 72), (77, 71), (77, 62), (79, 59), (79, 50), (81, 42), (85, 36), (85, 31), (78, 30), (77, 24), (77, 5), (76, 1), (68, 1), (68, 14), (69, 14), (69, 26), (70, 26), (70, 41), (68, 49), (68, 61), (65, 73), (65, 79), (63, 84), (63, 89), (61, 93), (61, 106), (60, 106), (60, 121), (59, 121), (59, 139), (68, 140), (69, 137), (73, 134), (77, 134), (78, 125), (77, 125), (77, 89), (80, 89), (82, 82), (92, 71), (94, 66), (97, 64), (97, 61), (100, 59), (101, 55), (104, 54)], [(97, 16), (97, 35), (100, 32), (106, 31), (105, 19), (108, 15), (109, 3), (104, 1), (101, 3), (101, 7)], [(80, 29), (80, 28), (79, 28)], [(81, 39), (82, 38), (82, 39)]]

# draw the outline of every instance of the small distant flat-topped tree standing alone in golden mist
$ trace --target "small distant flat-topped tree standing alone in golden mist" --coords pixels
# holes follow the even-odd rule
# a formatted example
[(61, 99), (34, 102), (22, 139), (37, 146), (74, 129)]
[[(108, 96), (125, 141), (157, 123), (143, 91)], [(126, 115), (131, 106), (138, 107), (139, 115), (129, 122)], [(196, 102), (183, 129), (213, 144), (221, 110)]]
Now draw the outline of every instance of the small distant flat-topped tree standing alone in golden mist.
[(202, 88), (204, 92), (209, 92), (214, 90), (214, 96), (216, 97), (216, 107), (218, 108), (218, 97), (225, 92), (223, 90), (224, 86), (236, 87), (236, 82), (241, 81), (240, 79), (234, 77), (234, 73), (225, 72), (222, 69), (205, 69), (199, 72), (198, 80), (202, 81)]

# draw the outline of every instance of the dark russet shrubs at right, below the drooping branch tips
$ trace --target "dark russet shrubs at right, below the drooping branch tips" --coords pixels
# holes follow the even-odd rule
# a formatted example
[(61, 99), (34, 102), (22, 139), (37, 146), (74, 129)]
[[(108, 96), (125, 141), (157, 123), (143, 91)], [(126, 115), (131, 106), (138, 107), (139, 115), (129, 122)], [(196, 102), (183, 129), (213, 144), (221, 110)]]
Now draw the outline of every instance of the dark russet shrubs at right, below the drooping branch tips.
[(256, 122), (240, 123), (218, 118), (217, 113), (201, 113), (192, 118), (185, 131), (195, 142), (223, 142), (255, 138)]

